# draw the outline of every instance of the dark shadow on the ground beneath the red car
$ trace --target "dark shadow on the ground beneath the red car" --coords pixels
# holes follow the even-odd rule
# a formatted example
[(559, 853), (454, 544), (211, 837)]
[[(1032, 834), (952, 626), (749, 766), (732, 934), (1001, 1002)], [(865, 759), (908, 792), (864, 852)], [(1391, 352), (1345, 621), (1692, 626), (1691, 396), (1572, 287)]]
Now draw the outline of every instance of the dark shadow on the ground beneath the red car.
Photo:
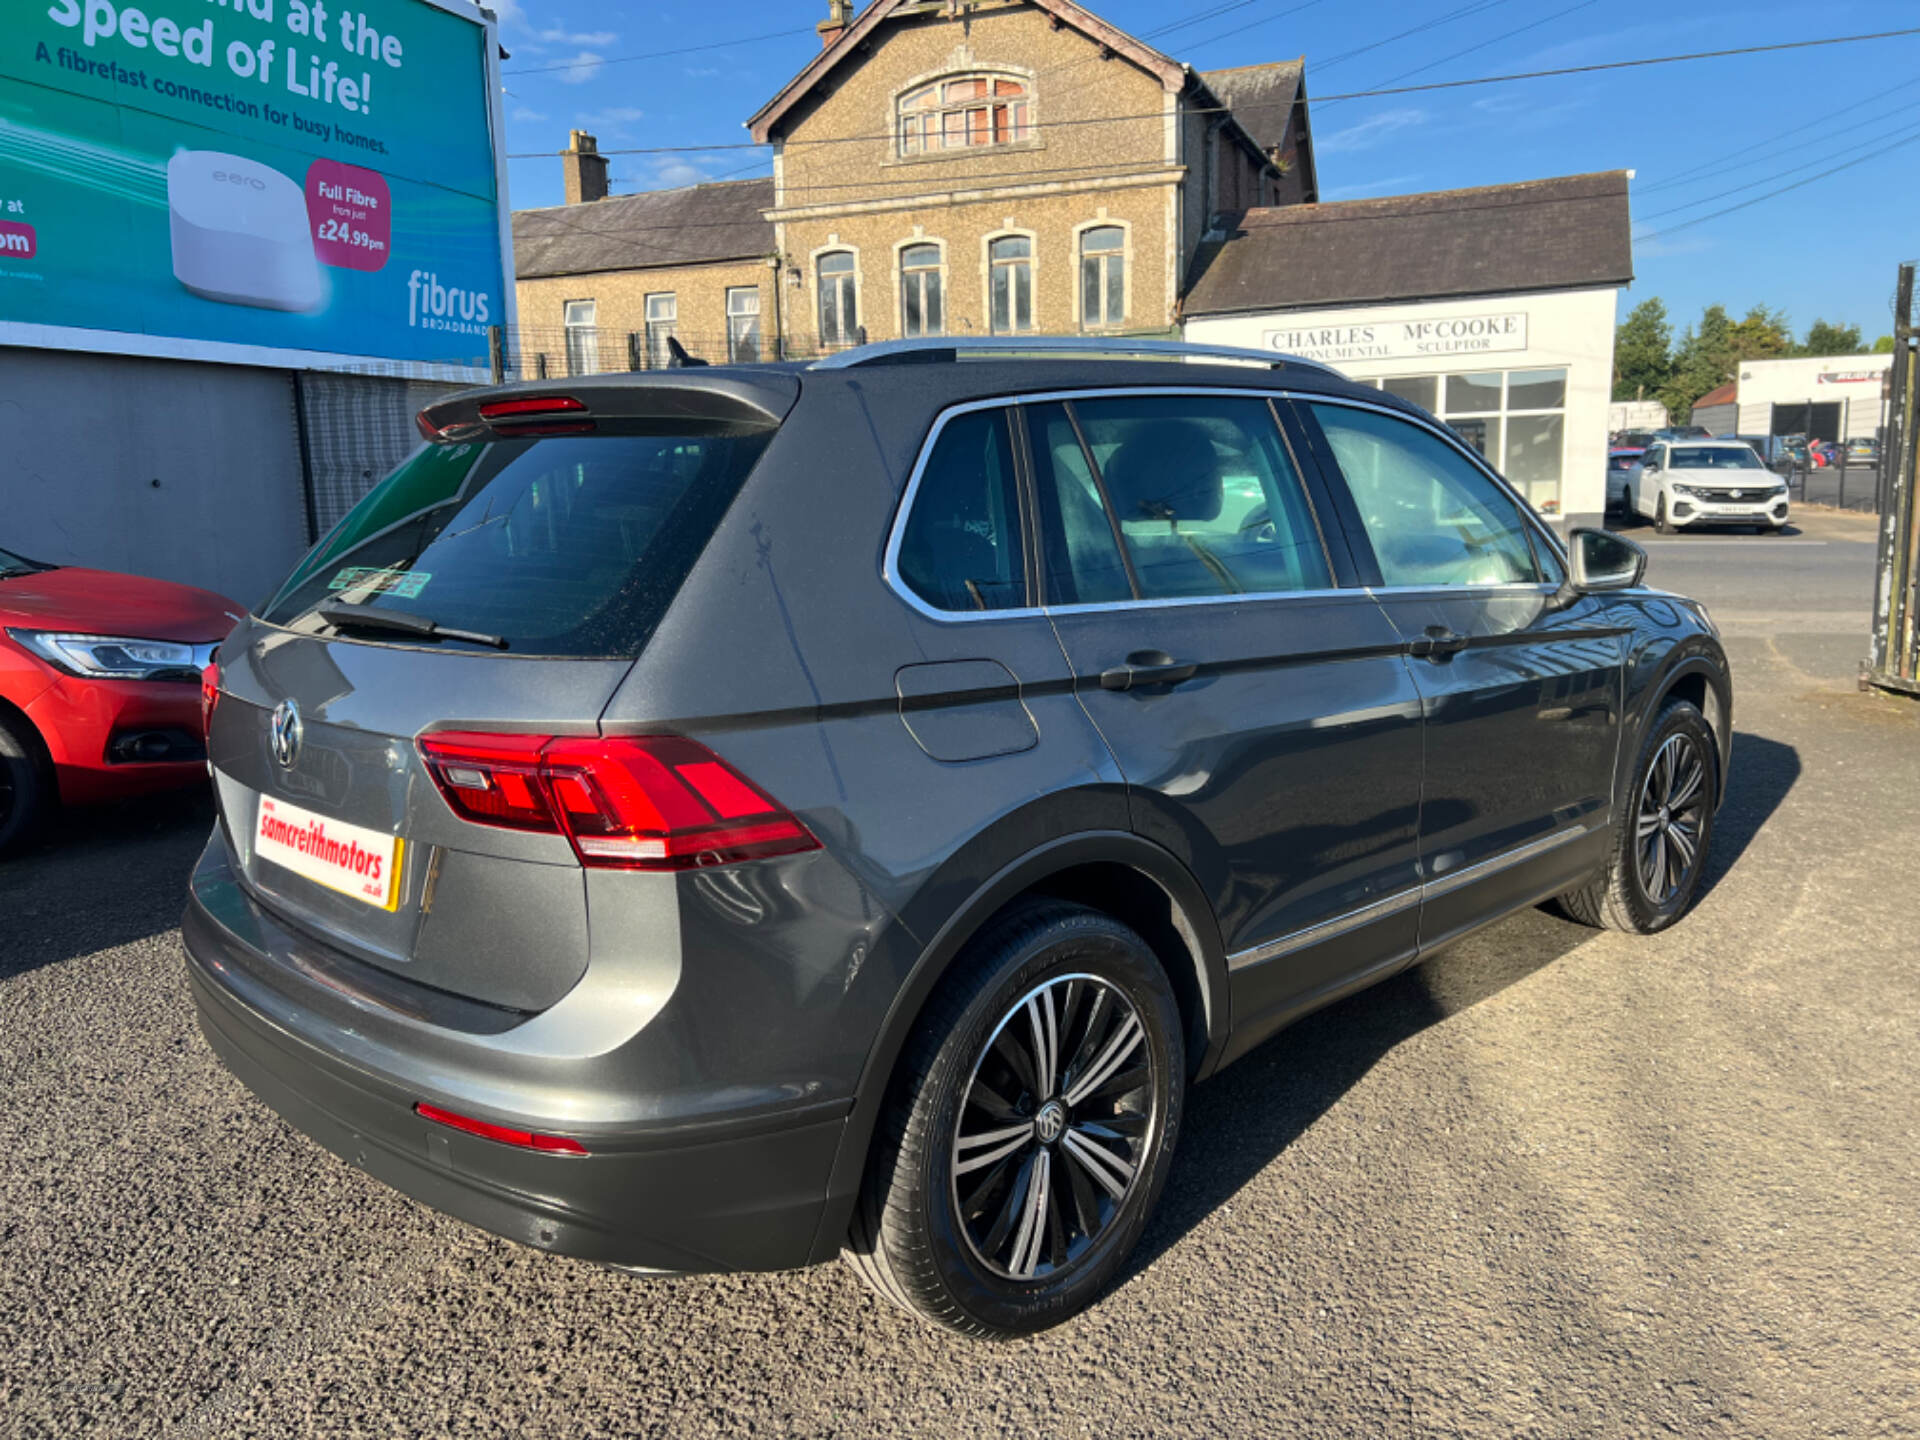
[(61, 810), (0, 860), (0, 979), (179, 925), (211, 828), (207, 787)]

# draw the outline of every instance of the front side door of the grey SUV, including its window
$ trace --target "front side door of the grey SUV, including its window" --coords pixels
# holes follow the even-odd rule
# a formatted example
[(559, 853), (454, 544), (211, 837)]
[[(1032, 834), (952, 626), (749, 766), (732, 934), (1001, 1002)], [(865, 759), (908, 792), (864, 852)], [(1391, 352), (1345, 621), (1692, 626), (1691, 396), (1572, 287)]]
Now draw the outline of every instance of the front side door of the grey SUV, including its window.
[(1294, 407), (1427, 714), (1421, 948), (1578, 881), (1605, 854), (1620, 630), (1561, 607), (1559, 557), (1463, 447), (1409, 419)]

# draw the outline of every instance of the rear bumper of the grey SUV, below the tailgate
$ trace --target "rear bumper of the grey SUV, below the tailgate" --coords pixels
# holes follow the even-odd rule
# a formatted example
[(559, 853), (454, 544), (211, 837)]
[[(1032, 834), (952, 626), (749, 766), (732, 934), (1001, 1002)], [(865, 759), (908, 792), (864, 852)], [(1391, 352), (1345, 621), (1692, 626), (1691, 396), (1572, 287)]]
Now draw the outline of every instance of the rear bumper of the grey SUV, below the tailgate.
[[(348, 1164), (434, 1210), (511, 1240), (609, 1265), (662, 1271), (787, 1269), (808, 1261), (845, 1104), (785, 1117), (607, 1131), (513, 1116), (348, 1060), (330, 1023), (294, 1033), (286, 991), (261, 991), (263, 964), (202, 899), (182, 922), (200, 1027), (225, 1066), (294, 1127)], [(288, 977), (288, 989), (300, 977)], [(342, 1050), (367, 1025), (342, 1027)], [(442, 1031), (442, 1037), (445, 1031)], [(444, 1075), (445, 1071), (442, 1071)], [(588, 1156), (520, 1150), (420, 1119), (419, 1100), (503, 1125), (572, 1135)]]

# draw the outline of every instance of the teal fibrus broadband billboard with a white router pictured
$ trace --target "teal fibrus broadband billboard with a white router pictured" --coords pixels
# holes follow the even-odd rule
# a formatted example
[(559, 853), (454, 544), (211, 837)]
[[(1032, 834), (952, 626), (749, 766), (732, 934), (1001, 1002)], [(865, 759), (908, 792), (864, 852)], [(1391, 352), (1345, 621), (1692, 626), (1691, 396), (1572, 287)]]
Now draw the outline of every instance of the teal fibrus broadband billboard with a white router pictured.
[[(465, 378), (511, 323), (461, 0), (0, 0), (0, 344)], [(451, 369), (449, 369), (451, 367)]]

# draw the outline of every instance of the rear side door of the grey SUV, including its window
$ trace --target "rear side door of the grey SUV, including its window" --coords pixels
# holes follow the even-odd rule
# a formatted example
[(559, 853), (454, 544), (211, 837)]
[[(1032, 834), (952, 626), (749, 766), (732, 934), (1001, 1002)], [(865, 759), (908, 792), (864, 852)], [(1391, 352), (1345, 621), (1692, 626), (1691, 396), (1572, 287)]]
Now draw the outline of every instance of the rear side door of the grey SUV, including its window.
[(1421, 707), (1265, 396), (1023, 407), (1048, 614), (1133, 828), (1213, 900), (1235, 1048), (1415, 945)]

